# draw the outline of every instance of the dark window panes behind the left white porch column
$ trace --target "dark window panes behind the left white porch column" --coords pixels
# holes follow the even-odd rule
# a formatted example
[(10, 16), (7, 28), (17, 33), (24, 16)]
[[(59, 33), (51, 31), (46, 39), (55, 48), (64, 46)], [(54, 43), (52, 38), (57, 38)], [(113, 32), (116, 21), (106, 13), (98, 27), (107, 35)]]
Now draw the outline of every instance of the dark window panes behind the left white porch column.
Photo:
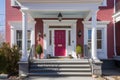
[[(27, 31), (27, 42), (28, 42), (27, 49), (30, 49), (30, 45), (31, 45), (30, 36), (31, 36), (31, 31), (28, 30)], [(16, 43), (17, 43), (18, 47), (22, 50), (22, 30), (16, 31)]]

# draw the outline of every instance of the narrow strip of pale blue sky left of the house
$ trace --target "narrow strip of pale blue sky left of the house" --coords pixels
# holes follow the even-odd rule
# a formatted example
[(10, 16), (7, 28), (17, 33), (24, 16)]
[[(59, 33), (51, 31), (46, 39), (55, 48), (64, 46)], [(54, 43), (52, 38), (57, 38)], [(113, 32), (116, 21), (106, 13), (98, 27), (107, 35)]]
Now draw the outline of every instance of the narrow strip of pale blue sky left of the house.
[(0, 32), (4, 32), (5, 27), (5, 0), (0, 0)]

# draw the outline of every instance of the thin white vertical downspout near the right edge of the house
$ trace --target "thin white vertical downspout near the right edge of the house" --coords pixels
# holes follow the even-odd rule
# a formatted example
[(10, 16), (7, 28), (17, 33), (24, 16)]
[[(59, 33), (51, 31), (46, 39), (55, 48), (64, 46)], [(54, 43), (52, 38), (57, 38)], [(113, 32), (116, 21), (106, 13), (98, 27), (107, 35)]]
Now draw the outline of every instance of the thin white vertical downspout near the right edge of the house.
[[(114, 14), (115, 14), (115, 10), (116, 10), (116, 0), (114, 0)], [(114, 56), (117, 56), (117, 52), (116, 52), (116, 29), (115, 29), (115, 19), (113, 18), (113, 30), (114, 30)]]

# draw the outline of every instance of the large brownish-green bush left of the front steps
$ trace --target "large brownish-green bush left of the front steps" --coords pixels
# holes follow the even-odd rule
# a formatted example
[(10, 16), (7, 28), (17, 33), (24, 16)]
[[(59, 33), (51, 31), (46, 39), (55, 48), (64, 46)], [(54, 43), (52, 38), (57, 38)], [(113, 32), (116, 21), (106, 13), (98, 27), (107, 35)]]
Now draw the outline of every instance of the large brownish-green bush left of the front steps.
[(17, 73), (20, 57), (18, 46), (10, 47), (9, 43), (2, 43), (0, 47), (0, 73)]

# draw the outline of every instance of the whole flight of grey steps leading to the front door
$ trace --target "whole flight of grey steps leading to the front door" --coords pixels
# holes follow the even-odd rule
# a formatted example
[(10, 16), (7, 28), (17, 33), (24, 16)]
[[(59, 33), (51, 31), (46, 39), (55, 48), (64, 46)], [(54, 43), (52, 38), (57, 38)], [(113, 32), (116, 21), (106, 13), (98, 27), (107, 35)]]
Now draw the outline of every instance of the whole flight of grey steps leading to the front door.
[(30, 76), (91, 76), (87, 59), (41, 59), (29, 66)]

